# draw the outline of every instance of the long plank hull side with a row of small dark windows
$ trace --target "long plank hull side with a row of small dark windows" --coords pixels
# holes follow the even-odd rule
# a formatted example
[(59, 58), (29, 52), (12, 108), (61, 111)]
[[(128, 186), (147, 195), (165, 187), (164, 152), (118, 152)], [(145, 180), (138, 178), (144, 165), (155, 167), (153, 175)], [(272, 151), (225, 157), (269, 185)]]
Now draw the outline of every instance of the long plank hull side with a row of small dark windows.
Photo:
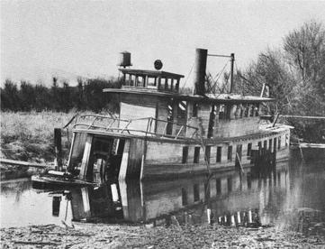
[(289, 158), (289, 137), (290, 130), (283, 129), (227, 140), (205, 139), (203, 143), (158, 139), (138, 139), (136, 142), (132, 138), (124, 148), (119, 178), (177, 179), (242, 170), (257, 162), (268, 167), (266, 162), (272, 164)]

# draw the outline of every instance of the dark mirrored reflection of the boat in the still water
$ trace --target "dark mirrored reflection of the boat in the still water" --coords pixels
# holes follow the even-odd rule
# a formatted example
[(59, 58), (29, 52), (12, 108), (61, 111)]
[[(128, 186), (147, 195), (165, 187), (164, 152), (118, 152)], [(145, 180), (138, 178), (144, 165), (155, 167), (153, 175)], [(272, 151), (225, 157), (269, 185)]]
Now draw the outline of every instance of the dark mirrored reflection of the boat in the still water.
[[(106, 182), (100, 187), (61, 192), (70, 202), (73, 221), (106, 222), (206, 222), (229, 226), (268, 224), (284, 206), (290, 191), (288, 164), (278, 164), (264, 173), (226, 171), (192, 179)], [(54, 216), (61, 198), (53, 196)], [(67, 205), (68, 207), (68, 205)], [(54, 210), (56, 209), (56, 210)], [(278, 211), (277, 211), (278, 210)], [(185, 214), (185, 215), (184, 215)], [(187, 217), (185, 217), (187, 216)]]

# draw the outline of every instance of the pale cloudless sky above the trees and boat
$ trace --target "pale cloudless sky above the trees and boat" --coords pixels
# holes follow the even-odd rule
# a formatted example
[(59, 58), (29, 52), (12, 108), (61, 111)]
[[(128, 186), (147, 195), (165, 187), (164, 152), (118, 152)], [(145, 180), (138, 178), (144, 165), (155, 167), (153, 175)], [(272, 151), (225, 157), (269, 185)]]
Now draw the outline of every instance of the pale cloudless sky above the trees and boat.
[[(1, 83), (117, 77), (121, 51), (131, 52), (134, 69), (154, 69), (159, 59), (185, 78), (195, 48), (234, 52), (244, 69), (304, 22), (325, 23), (325, 1), (0, 2)], [(209, 58), (208, 69), (215, 75), (227, 61)]]

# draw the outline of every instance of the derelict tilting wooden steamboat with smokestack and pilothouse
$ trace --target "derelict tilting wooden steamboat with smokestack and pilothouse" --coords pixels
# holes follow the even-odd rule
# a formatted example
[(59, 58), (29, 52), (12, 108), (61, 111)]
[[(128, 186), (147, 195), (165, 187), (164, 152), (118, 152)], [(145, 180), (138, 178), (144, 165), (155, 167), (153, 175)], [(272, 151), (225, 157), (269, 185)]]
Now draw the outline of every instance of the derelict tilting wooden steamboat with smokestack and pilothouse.
[(265, 152), (286, 159), (290, 127), (260, 122), (261, 105), (272, 99), (206, 93), (208, 56), (196, 50), (194, 94), (186, 95), (183, 75), (131, 69), (131, 54), (122, 53), (122, 88), (104, 89), (119, 97), (119, 114), (76, 119), (68, 173), (86, 182), (179, 178), (243, 170)]

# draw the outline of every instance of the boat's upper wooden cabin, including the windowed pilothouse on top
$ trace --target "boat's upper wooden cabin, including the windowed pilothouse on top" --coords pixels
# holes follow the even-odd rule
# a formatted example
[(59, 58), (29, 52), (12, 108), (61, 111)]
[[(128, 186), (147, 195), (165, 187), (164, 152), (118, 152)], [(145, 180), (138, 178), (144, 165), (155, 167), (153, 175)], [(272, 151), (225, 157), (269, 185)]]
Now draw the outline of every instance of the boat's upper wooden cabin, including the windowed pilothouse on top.
[[(198, 50), (198, 57), (202, 51)], [(243, 97), (234, 94), (206, 94), (204, 78), (197, 66), (195, 95), (179, 93), (183, 75), (140, 69), (120, 69), (121, 89), (104, 89), (106, 93), (117, 93), (120, 97), (121, 119), (141, 119), (129, 127), (147, 129), (148, 120), (153, 117), (150, 132), (164, 135), (182, 135), (190, 138), (198, 127), (204, 138), (225, 138), (254, 134), (258, 130), (259, 106), (271, 101), (266, 97)], [(186, 127), (187, 126), (187, 127)], [(187, 128), (187, 130), (186, 130)]]

